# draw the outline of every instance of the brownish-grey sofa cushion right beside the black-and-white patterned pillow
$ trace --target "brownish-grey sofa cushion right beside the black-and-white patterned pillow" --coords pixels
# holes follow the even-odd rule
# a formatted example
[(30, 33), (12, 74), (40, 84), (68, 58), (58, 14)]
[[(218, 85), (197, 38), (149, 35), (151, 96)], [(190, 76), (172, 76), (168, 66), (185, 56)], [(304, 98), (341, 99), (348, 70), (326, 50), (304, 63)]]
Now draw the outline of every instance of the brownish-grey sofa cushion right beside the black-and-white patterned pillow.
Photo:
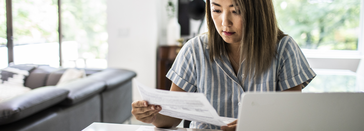
[(48, 65), (39, 65), (37, 69), (29, 74), (24, 85), (31, 89), (46, 86), (48, 75), (55, 70), (57, 70), (57, 68)]

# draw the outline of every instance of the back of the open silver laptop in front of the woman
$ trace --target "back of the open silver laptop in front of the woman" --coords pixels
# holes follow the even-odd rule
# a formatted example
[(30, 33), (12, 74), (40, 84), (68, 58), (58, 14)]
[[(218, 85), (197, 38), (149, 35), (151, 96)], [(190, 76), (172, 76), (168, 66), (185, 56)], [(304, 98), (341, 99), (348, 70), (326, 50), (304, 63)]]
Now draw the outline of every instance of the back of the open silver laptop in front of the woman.
[(364, 93), (246, 93), (236, 131), (364, 131)]

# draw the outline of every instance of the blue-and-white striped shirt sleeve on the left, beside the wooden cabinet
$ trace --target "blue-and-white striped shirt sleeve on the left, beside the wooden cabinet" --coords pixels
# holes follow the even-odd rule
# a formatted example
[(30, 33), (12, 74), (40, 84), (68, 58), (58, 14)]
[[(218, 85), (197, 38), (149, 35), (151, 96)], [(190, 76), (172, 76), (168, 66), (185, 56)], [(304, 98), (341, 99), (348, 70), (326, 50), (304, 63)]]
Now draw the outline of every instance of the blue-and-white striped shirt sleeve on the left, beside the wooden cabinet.
[(187, 42), (182, 47), (166, 75), (173, 83), (187, 92), (195, 92), (197, 89), (196, 64), (191, 48), (191, 42)]

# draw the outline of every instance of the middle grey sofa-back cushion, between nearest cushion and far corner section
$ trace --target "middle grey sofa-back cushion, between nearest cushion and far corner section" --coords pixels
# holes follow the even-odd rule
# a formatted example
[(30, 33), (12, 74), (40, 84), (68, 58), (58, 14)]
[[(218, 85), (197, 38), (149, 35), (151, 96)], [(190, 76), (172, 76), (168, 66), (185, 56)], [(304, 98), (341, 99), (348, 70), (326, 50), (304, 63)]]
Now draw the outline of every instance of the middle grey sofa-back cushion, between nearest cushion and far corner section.
[(60, 103), (69, 106), (100, 93), (105, 89), (105, 82), (86, 77), (57, 87), (70, 91), (67, 98)]

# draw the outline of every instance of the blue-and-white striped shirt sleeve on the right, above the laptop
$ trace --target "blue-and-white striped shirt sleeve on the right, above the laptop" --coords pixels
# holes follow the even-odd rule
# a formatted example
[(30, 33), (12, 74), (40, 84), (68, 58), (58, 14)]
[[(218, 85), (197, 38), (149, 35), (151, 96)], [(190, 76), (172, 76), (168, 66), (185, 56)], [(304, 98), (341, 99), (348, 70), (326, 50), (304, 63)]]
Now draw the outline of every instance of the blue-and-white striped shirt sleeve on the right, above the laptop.
[[(286, 37), (280, 44), (280, 70), (277, 91), (283, 91), (302, 83), (302, 89), (312, 81), (316, 73), (310, 68), (306, 57), (292, 37)], [(283, 40), (282, 40), (283, 42)]]

